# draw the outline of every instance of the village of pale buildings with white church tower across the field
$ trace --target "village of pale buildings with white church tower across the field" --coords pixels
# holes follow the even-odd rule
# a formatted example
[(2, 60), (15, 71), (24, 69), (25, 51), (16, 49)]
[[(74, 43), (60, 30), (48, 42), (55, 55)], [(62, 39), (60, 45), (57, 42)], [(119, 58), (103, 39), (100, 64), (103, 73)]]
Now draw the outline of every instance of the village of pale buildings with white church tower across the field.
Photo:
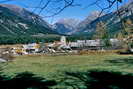
[[(35, 55), (35, 54), (59, 54), (59, 53), (78, 53), (79, 51), (88, 50), (114, 50), (121, 49), (121, 42), (118, 39), (110, 39), (110, 48), (106, 48), (104, 43), (100, 40), (77, 40), (75, 42), (68, 42), (65, 36), (60, 38), (60, 41), (51, 43), (30, 43), (19, 46), (1, 47), (0, 58), (3, 54), (19, 55)], [(131, 49), (131, 51), (133, 51)], [(8, 58), (7, 58), (8, 60)]]

